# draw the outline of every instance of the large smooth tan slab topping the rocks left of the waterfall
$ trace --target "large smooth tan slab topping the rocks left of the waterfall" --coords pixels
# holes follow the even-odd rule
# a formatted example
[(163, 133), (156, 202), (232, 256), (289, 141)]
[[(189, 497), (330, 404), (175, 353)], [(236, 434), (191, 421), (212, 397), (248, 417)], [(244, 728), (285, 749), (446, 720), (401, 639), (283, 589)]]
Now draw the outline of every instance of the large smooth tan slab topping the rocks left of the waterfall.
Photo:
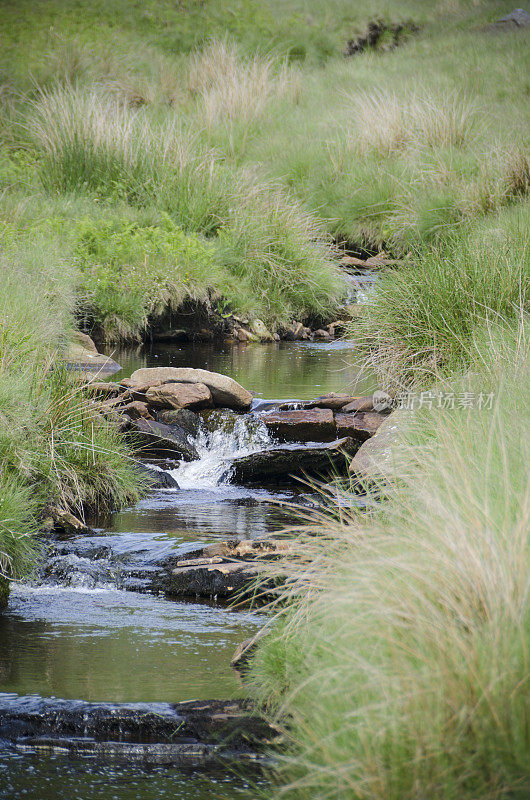
[(236, 411), (248, 411), (252, 405), (252, 394), (242, 386), (218, 372), (192, 367), (151, 367), (137, 369), (131, 375), (133, 386), (161, 383), (203, 383), (212, 393), (213, 401), (218, 406), (233, 408)]

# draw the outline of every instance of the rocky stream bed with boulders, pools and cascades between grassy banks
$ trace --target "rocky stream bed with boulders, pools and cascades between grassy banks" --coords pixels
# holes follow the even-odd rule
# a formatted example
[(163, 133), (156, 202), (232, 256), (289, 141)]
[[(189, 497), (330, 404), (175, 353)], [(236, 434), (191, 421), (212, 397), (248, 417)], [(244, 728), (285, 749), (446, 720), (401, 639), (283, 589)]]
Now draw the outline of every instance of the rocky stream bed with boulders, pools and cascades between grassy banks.
[[(369, 396), (330, 393), (357, 378), (344, 343), (254, 353), (255, 394), (223, 374), (238, 376), (237, 350), (197, 345), (115, 354), (125, 377), (92, 381), (152, 488), (110, 519), (52, 514), (39, 573), (12, 587), (0, 615), (11, 794), (0, 796), (99, 796), (94, 764), (120, 800), (230, 797), (265, 780), (278, 731), (241, 699), (231, 667), (267, 621), (267, 584), (250, 602), (256, 581), (289, 548), (278, 531), (290, 506), (317, 502), (297, 478), (344, 473), (385, 417)], [(60, 792), (72, 794), (54, 779), (65, 758)]]

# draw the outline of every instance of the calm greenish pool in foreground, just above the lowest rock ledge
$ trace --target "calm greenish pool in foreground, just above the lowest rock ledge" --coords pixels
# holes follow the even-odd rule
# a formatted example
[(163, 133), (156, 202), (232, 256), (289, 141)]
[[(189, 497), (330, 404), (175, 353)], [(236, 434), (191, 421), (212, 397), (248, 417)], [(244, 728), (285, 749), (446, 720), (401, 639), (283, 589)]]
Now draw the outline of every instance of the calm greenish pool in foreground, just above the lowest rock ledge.
[(233, 697), (230, 658), (264, 621), (133, 592), (15, 587), (0, 614), (0, 686), (109, 702)]

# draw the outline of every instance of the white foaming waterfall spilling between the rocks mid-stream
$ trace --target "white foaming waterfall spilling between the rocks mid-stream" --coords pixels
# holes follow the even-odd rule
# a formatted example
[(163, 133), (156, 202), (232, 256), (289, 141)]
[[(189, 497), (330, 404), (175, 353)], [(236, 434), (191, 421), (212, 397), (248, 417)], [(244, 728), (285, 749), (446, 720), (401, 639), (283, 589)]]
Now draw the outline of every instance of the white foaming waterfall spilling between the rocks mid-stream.
[(271, 443), (267, 427), (257, 416), (212, 411), (194, 440), (199, 459), (182, 462), (171, 474), (181, 489), (213, 489), (230, 483), (232, 459), (264, 450)]

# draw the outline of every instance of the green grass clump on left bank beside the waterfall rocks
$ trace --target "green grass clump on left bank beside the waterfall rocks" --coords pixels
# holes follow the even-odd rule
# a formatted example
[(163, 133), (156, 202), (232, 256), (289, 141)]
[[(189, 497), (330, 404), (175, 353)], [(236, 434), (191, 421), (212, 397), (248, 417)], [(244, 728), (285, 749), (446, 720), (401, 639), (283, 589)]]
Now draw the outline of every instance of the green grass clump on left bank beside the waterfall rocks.
[(49, 505), (83, 513), (139, 493), (129, 453), (60, 368), (72, 334), (75, 273), (44, 237), (0, 242), (0, 574), (38, 555)]

